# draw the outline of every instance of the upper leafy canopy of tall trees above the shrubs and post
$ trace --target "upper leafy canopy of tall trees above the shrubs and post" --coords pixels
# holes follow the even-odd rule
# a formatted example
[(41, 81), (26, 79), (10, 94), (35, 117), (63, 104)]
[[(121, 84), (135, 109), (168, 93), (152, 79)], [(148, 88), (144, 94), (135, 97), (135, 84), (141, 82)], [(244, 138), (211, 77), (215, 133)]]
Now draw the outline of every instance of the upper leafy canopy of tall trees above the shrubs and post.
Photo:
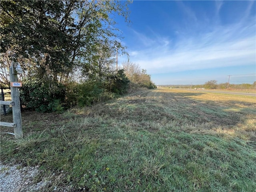
[(130, 1), (2, 1), (1, 56), (6, 57), (2, 64), (8, 70), (11, 60), (18, 61), (26, 76), (47, 73), (63, 82), (74, 69), (83, 68), (98, 51), (99, 42), (108, 42), (124, 53), (113, 16), (129, 22), (128, 4)]

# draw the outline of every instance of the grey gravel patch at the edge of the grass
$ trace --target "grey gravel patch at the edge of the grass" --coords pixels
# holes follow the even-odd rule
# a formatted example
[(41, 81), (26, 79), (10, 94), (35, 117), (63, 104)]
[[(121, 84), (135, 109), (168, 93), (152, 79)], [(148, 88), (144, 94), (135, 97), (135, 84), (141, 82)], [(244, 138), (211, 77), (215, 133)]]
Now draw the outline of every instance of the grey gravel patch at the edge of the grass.
[(0, 164), (0, 192), (33, 192), (38, 191), (44, 183), (33, 181), (39, 173), (38, 167)]

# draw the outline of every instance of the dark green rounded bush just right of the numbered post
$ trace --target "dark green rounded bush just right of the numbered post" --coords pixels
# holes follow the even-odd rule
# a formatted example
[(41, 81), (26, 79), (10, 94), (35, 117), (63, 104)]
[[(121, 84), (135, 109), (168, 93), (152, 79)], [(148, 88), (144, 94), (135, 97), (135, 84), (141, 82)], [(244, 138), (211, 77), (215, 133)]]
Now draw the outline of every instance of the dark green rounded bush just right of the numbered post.
[(22, 82), (20, 99), (28, 109), (38, 112), (61, 111), (64, 98), (64, 85), (51, 79), (30, 78)]

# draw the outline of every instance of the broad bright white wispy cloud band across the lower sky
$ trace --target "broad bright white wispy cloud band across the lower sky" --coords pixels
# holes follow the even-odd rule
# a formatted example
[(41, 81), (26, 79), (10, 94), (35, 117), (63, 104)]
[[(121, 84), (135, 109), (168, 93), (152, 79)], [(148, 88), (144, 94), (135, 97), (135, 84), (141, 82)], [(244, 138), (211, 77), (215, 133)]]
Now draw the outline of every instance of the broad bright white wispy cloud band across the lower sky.
[(255, 64), (255, 16), (247, 18), (247, 23), (242, 20), (216, 25), (198, 35), (178, 36), (175, 44), (166, 36), (149, 37), (134, 31), (146, 47), (131, 50), (130, 60), (150, 74)]

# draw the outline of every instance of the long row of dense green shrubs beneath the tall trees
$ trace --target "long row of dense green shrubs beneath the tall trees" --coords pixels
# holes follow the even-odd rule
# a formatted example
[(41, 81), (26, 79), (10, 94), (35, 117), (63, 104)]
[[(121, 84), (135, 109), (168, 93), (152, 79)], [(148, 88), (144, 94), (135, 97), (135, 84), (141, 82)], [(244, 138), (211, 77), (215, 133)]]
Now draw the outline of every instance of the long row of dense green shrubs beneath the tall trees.
[(65, 85), (47, 78), (30, 78), (23, 81), (20, 98), (28, 109), (38, 112), (60, 111), (64, 106), (90, 106), (112, 99), (126, 93), (129, 83), (124, 70), (83, 83), (66, 82)]

